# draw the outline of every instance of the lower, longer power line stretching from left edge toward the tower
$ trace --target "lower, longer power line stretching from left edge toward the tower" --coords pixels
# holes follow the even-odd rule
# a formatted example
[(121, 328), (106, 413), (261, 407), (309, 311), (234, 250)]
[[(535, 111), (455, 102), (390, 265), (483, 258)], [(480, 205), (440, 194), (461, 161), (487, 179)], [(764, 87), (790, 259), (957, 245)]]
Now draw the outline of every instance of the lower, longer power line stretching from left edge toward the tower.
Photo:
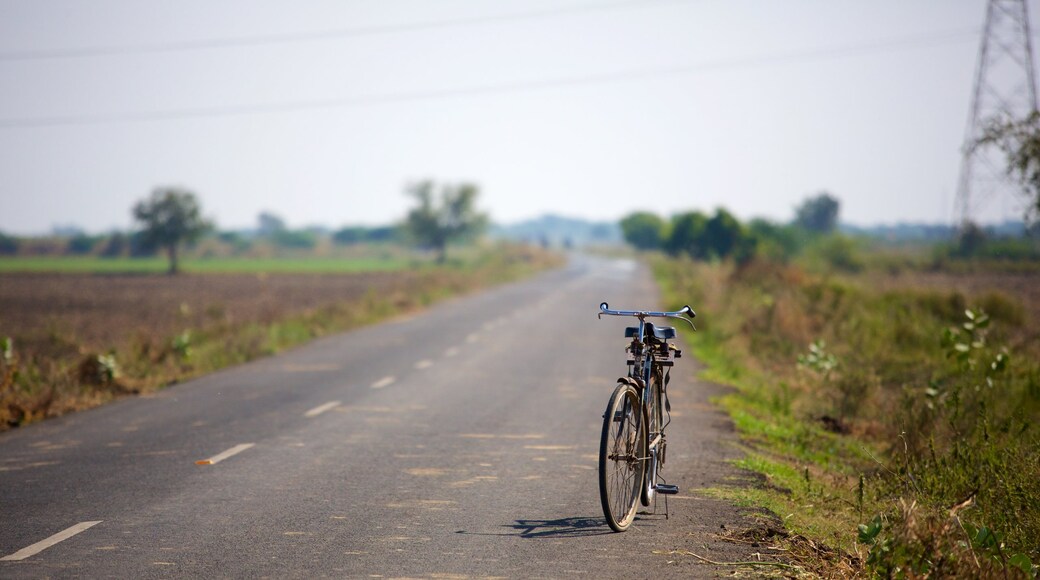
[(477, 85), (460, 88), (435, 90), (416, 90), (383, 95), (338, 97), (332, 99), (314, 99), (303, 101), (285, 101), (281, 103), (261, 103), (251, 105), (231, 105), (213, 107), (191, 107), (170, 109), (164, 111), (122, 112), (99, 115), (55, 115), (34, 116), (24, 118), (0, 118), (0, 129), (36, 128), (36, 127), (68, 127), (82, 125), (113, 125), (125, 123), (141, 123), (156, 121), (174, 121), (184, 118), (207, 118), (226, 116), (244, 116), (254, 114), (270, 114), (298, 112), (319, 109), (339, 109), (361, 107), (378, 104), (393, 104), (413, 101), (432, 101), (458, 97), (479, 97), (509, 93), (541, 90), (582, 85), (606, 84), (632, 80), (681, 76), (710, 72), (724, 72), (742, 69), (757, 69), (781, 64), (795, 64), (821, 60), (833, 60), (879, 52), (930, 48), (945, 44), (974, 41), (979, 31), (976, 29), (950, 30), (924, 37), (894, 38), (882, 42), (794, 51), (769, 56), (751, 56), (745, 58), (720, 59), (677, 67), (658, 67), (613, 73), (560, 77), (531, 81), (506, 82)]

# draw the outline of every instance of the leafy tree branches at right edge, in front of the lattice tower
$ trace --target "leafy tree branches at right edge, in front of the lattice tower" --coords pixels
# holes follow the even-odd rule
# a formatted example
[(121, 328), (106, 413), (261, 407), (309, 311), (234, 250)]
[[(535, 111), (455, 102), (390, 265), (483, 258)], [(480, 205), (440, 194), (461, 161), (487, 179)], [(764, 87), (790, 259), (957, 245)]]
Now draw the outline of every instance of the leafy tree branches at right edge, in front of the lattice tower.
[[(1008, 174), (1022, 186), (1030, 200), (1025, 219), (1040, 217), (1040, 111), (1021, 121), (996, 121), (972, 147), (996, 144), (1008, 158)], [(967, 226), (967, 225), (965, 225)]]

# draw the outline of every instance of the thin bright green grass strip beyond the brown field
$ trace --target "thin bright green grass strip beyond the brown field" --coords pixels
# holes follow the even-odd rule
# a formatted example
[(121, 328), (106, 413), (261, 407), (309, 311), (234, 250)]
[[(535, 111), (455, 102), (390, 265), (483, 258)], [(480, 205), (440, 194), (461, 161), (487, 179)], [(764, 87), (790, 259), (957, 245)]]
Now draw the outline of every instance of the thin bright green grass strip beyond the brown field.
[[(355, 273), (401, 270), (401, 258), (196, 258), (183, 260), (187, 273)], [(164, 258), (9, 257), (0, 272), (162, 273)]]

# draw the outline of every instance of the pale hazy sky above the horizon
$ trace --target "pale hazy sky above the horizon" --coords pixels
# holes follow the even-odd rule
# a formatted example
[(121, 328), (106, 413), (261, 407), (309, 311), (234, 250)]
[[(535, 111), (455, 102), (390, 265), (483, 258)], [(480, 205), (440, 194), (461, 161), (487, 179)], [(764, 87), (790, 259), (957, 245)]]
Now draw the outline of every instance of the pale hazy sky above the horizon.
[(787, 220), (822, 189), (946, 222), (985, 7), (0, 0), (0, 231), (127, 228), (160, 185), (222, 228), (385, 223), (424, 178), (505, 222)]

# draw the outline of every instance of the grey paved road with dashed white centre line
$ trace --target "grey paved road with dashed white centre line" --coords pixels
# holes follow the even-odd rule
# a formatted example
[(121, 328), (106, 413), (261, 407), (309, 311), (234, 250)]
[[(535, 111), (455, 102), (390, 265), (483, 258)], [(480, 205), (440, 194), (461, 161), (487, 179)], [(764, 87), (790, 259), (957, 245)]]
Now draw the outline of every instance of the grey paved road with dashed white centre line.
[[(626, 324), (596, 319), (604, 299), (657, 306), (634, 263), (576, 258), (408, 319), (2, 433), (0, 577), (731, 572), (654, 553), (756, 551), (721, 542), (723, 526), (748, 522), (694, 491), (729, 474), (732, 436), (688, 359), (670, 389), (666, 475), (681, 489), (671, 519), (641, 516), (623, 534), (602, 520), (600, 417), (624, 372)], [(22, 558), (63, 530), (79, 533)]]

